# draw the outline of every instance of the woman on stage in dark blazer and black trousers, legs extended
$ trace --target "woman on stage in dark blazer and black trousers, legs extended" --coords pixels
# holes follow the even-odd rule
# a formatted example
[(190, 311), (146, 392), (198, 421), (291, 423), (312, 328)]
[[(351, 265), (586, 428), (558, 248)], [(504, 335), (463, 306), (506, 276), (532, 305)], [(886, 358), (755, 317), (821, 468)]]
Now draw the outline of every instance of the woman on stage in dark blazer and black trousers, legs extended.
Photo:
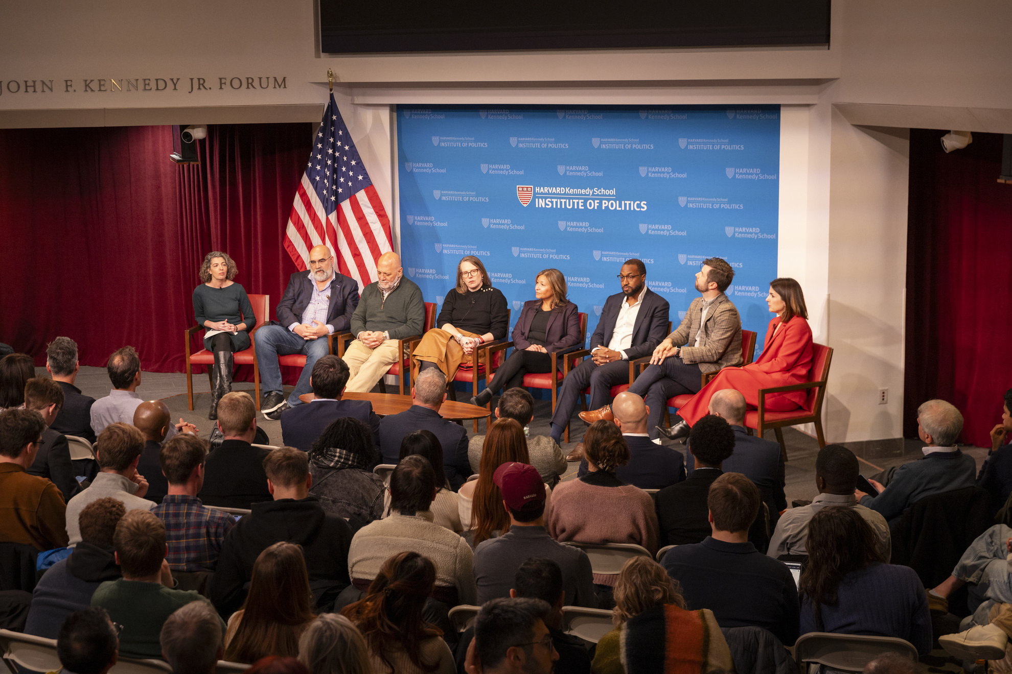
[(576, 304), (566, 299), (566, 277), (558, 269), (538, 272), (534, 297), (523, 303), (513, 328), (513, 353), (499, 366), (489, 388), (471, 399), (484, 407), (504, 388), (523, 386), (527, 373), (552, 370), (551, 354), (580, 344), (580, 318)]

